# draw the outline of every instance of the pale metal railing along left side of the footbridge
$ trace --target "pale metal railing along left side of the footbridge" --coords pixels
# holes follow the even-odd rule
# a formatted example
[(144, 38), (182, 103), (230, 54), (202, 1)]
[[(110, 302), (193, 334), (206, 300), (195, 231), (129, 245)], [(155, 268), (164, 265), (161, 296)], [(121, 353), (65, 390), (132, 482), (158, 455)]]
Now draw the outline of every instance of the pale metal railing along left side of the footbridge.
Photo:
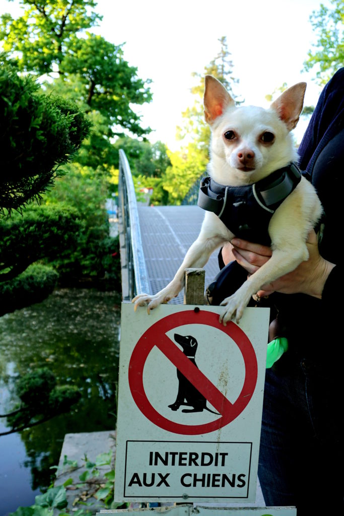
[(150, 286), (142, 249), (132, 172), (122, 149), (119, 154), (118, 199), (122, 298), (123, 301), (130, 301), (141, 292), (150, 294)]

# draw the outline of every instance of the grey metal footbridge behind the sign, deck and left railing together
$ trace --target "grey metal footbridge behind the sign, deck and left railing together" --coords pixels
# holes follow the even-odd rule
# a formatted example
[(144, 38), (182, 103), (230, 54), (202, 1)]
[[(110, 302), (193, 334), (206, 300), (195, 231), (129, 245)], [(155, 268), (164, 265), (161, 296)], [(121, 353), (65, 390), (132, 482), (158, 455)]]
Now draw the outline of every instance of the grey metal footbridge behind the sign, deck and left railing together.
[[(184, 256), (199, 235), (204, 218), (196, 205), (148, 206), (136, 201), (128, 160), (120, 150), (119, 237), (122, 298), (156, 294), (174, 277)], [(219, 271), (217, 253), (205, 265), (205, 285)], [(170, 303), (183, 304), (184, 292)]]

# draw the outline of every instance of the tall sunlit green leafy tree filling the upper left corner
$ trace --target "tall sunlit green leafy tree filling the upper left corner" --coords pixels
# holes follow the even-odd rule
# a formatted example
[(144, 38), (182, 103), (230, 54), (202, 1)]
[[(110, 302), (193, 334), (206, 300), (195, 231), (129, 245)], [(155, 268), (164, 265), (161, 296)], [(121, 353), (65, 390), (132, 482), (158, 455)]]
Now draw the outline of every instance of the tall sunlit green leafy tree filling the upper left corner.
[(74, 90), (73, 100), (86, 112), (105, 117), (110, 130), (106, 138), (124, 130), (138, 135), (150, 132), (130, 107), (151, 100), (145, 86), (150, 81), (137, 77), (137, 69), (124, 60), (123, 45), (85, 32), (102, 18), (93, 10), (96, 2), (23, 0), (22, 4), (26, 9), (20, 18), (4, 14), (0, 24), (4, 50), (17, 57), (19, 70), (38, 76), (57, 74), (59, 80), (50, 88)]

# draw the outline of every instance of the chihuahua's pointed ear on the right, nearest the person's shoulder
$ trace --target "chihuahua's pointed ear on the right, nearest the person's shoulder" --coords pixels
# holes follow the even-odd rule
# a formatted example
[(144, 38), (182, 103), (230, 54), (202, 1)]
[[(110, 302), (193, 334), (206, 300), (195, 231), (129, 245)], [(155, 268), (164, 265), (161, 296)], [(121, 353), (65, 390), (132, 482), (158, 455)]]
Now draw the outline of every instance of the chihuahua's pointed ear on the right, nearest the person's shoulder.
[(306, 83), (298, 83), (291, 86), (271, 104), (272, 109), (277, 112), (277, 115), (286, 124), (289, 131), (296, 127), (299, 121), (306, 86)]

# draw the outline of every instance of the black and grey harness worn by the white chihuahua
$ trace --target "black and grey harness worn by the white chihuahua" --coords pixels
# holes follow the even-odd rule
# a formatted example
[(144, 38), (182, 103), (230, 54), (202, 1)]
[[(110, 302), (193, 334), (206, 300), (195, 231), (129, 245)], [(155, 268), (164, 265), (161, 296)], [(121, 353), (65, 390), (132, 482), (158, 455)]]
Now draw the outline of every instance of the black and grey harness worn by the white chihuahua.
[(207, 177), (201, 181), (197, 204), (214, 212), (235, 236), (270, 246), (270, 219), (300, 181), (294, 163), (245, 186), (224, 186)]

